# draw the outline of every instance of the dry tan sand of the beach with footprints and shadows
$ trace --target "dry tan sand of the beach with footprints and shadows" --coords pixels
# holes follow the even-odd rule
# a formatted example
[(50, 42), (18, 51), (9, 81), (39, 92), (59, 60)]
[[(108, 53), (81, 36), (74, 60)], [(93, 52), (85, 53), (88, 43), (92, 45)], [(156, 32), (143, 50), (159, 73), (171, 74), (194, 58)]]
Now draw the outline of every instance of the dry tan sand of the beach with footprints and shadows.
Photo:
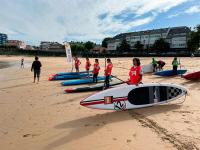
[[(143, 82), (177, 83), (189, 89), (183, 104), (113, 112), (79, 105), (92, 94), (64, 94), (60, 81), (49, 82), (50, 74), (70, 71), (65, 58), (41, 57), (41, 82), (32, 83), (30, 63), (24, 57), (0, 56), (15, 63), (0, 69), (0, 149), (2, 150), (165, 150), (200, 149), (200, 82), (180, 77), (144, 75)], [(172, 58), (162, 58), (171, 68)], [(112, 59), (113, 74), (126, 80), (132, 58)], [(82, 70), (84, 69), (84, 59)], [(92, 60), (93, 61), (93, 60)], [(150, 58), (141, 58), (148, 64)], [(200, 70), (200, 58), (181, 58), (189, 72)], [(102, 70), (104, 59), (100, 60)], [(101, 71), (102, 71), (101, 70)]]

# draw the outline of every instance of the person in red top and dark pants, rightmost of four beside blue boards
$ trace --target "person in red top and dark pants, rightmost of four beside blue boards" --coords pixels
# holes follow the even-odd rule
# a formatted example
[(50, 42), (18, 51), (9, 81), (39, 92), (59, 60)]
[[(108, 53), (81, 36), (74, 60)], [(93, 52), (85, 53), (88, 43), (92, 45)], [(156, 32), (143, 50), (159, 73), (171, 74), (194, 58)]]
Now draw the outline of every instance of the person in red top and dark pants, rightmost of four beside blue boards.
[(110, 58), (107, 59), (107, 66), (106, 66), (106, 69), (105, 69), (105, 88), (109, 88), (110, 86), (110, 76), (112, 74), (112, 67), (113, 67), (113, 64), (110, 60)]

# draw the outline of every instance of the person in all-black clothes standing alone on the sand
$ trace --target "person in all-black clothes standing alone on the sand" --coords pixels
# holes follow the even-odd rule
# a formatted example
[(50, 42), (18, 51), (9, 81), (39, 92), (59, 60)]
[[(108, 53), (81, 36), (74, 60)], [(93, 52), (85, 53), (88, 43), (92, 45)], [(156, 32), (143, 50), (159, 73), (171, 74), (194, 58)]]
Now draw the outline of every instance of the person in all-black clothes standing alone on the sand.
[(39, 61), (39, 58), (36, 56), (35, 61), (32, 63), (32, 67), (31, 67), (31, 72), (34, 71), (34, 81), (33, 81), (33, 83), (35, 83), (36, 77), (37, 77), (37, 81), (39, 82), (39, 80), (40, 80), (40, 68), (41, 67), (42, 67), (42, 64)]

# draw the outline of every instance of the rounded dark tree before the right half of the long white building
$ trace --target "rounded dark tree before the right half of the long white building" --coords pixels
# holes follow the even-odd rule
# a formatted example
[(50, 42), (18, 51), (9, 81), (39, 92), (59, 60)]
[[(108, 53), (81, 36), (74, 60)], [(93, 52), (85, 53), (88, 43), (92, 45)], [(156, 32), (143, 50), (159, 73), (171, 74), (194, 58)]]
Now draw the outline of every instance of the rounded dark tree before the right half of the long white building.
[(153, 46), (151, 47), (152, 50), (163, 52), (169, 50), (170, 45), (168, 42), (166, 42), (164, 39), (160, 38), (159, 40), (156, 40)]

